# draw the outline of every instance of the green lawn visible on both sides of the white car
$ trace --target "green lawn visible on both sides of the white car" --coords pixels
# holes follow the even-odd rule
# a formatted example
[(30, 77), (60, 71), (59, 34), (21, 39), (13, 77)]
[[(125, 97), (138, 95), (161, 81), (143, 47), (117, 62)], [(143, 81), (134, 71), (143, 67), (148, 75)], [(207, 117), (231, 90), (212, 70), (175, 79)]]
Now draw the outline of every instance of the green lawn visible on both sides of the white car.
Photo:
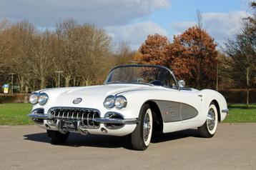
[[(33, 124), (27, 114), (31, 111), (31, 104), (0, 104), (0, 125)], [(231, 104), (228, 106), (230, 115), (225, 123), (256, 122), (256, 104)]]

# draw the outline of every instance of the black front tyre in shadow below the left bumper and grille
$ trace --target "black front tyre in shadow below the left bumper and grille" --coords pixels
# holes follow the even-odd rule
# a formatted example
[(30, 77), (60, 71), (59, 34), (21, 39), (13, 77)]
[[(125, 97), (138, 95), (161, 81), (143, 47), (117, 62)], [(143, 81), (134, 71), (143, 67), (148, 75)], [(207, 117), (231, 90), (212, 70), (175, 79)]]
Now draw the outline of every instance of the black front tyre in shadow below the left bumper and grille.
[(64, 144), (69, 137), (69, 132), (67, 134), (61, 134), (59, 131), (47, 130), (47, 134), (51, 139), (51, 144)]

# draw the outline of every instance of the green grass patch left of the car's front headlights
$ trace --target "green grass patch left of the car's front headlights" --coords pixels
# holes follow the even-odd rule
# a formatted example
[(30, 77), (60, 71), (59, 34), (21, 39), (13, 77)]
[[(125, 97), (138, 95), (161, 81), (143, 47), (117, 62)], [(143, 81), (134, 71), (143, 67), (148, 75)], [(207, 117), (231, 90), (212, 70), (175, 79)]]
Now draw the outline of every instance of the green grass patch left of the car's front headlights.
[(0, 104), (0, 125), (33, 124), (27, 114), (31, 104)]

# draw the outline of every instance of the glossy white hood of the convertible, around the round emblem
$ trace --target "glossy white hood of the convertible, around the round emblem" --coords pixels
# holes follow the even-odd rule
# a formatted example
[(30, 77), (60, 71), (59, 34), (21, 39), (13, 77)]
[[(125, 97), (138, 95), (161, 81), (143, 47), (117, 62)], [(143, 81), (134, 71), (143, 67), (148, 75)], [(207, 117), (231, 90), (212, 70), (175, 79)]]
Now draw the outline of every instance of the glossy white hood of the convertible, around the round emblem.
[[(109, 95), (117, 95), (127, 91), (147, 90), (151, 87), (152, 86), (138, 84), (109, 84), (102, 86), (44, 89), (40, 92), (44, 92), (49, 96), (49, 101), (44, 105), (48, 108), (52, 106), (97, 108), (99, 106), (103, 106), (102, 102)], [(73, 104), (72, 101), (77, 98), (82, 98), (82, 102), (79, 104)]]

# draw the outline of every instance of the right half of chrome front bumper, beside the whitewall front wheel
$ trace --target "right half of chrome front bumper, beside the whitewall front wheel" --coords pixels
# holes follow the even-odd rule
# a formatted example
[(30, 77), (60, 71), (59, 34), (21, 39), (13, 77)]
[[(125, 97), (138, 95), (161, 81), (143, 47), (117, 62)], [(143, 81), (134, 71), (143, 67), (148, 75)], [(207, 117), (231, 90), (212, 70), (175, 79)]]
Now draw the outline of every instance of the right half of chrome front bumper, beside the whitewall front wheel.
[(94, 121), (100, 124), (137, 124), (137, 119), (108, 119), (108, 118), (96, 118)]

